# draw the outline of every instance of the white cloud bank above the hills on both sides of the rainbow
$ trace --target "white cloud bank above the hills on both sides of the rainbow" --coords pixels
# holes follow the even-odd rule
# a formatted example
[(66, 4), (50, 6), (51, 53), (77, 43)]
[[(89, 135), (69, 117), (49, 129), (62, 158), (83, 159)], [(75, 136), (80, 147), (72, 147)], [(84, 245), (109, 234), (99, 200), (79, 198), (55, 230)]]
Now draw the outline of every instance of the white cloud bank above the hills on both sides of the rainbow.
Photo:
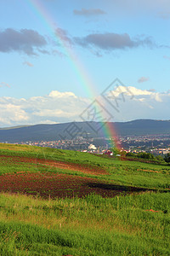
[[(111, 121), (169, 119), (170, 91), (118, 86), (106, 96), (109, 96), (107, 101), (103, 96), (97, 99), (113, 116)], [(52, 90), (47, 96), (29, 99), (0, 97), (0, 127), (82, 121), (80, 114), (91, 103), (88, 98), (78, 97), (71, 91), (57, 90)]]

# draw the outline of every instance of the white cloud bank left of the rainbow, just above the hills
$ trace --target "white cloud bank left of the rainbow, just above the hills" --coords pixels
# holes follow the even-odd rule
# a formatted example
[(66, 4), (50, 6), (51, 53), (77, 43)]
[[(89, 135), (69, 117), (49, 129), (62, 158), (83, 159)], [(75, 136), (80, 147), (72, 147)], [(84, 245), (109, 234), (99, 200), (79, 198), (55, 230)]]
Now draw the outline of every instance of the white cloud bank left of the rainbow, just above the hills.
[(52, 90), (29, 99), (0, 97), (0, 126), (60, 123), (77, 120), (90, 101), (74, 93)]

